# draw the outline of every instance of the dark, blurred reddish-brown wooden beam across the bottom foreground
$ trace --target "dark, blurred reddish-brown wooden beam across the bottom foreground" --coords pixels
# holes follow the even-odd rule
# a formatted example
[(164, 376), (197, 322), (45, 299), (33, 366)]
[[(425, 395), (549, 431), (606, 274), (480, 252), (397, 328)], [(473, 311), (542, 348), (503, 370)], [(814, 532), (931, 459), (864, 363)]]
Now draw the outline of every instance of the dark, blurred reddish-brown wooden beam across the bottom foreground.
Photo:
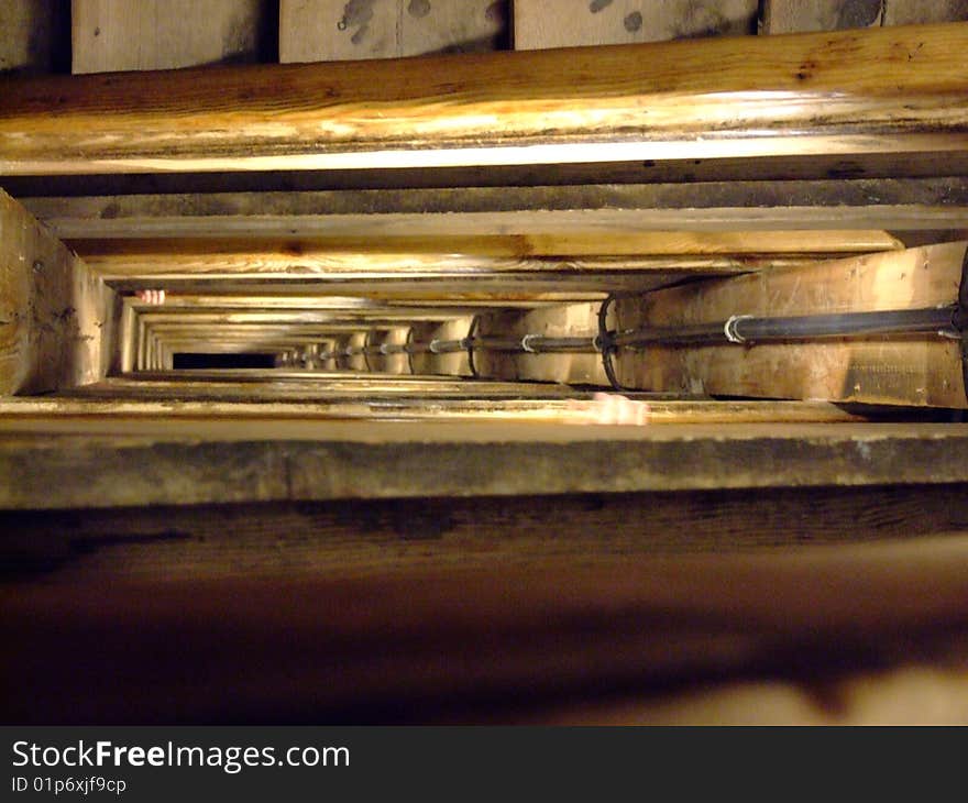
[[(3, 710), (42, 725), (371, 724), (385, 722), (386, 711), (418, 724), (435, 715), (481, 724), (528, 713), (521, 700), (573, 704), (590, 684), (668, 693), (689, 681), (774, 678), (789, 667), (788, 680), (815, 689), (845, 668), (911, 661), (936, 671), (947, 663), (964, 701), (966, 488), (866, 491), (631, 495), (601, 499), (591, 513), (586, 497), (561, 497), (547, 512), (527, 498), (435, 501), (435, 516), (426, 502), (188, 508), (162, 526), (164, 508), (138, 518), (82, 512), (76, 546), (96, 550), (80, 572), (87, 583), (69, 582), (68, 565), (63, 582), (54, 574), (0, 587), (0, 637), (20, 679)], [(912, 518), (912, 507), (930, 515)], [(788, 512), (800, 522), (788, 537), (840, 546), (656, 554), (662, 543), (648, 544), (670, 530), (691, 536), (693, 548), (715, 543), (717, 532), (760, 531), (769, 543), (774, 517), (785, 524)], [(348, 517), (369, 532), (361, 537)], [(602, 518), (616, 527), (601, 529)], [(4, 531), (56, 546), (51, 519), (8, 520), (14, 526)], [(292, 526), (279, 532), (266, 524), (278, 520)], [(640, 521), (647, 529), (637, 536), (624, 529)], [(920, 538), (845, 543), (844, 528), (858, 521), (866, 539), (892, 529)], [(226, 543), (229, 531), (234, 544)], [(134, 534), (140, 544), (130, 542)], [(461, 540), (468, 549), (453, 544)], [(119, 560), (132, 559), (127, 575), (112, 571), (110, 542)], [(184, 559), (176, 576), (152, 574), (152, 547)], [(374, 551), (384, 561), (366, 568), (360, 559)], [(420, 553), (436, 560), (428, 565)], [(68, 660), (78, 651), (85, 661)], [(218, 682), (199, 683), (206, 672)], [(495, 700), (512, 707), (495, 710)]]

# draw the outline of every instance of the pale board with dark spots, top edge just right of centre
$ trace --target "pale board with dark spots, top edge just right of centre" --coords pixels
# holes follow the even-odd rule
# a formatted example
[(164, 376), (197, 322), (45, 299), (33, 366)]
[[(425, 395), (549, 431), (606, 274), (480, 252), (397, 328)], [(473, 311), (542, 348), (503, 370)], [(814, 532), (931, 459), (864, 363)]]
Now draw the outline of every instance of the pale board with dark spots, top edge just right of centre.
[(515, 0), (519, 51), (735, 36), (757, 30), (757, 0)]

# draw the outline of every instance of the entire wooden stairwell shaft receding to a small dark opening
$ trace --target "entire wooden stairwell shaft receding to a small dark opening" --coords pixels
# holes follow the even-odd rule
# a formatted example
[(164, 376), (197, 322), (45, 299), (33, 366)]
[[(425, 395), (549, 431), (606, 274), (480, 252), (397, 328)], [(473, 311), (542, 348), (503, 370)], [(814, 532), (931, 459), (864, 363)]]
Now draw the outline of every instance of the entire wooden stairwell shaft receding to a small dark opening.
[(949, 4), (28, 6), (7, 721), (968, 722)]

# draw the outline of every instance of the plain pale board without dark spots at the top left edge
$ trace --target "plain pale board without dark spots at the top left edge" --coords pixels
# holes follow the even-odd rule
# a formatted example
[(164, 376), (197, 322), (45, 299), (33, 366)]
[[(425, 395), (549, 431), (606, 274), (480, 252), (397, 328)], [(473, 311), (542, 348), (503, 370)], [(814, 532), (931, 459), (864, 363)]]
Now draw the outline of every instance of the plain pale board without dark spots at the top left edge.
[(258, 62), (272, 12), (266, 0), (72, 0), (73, 72)]

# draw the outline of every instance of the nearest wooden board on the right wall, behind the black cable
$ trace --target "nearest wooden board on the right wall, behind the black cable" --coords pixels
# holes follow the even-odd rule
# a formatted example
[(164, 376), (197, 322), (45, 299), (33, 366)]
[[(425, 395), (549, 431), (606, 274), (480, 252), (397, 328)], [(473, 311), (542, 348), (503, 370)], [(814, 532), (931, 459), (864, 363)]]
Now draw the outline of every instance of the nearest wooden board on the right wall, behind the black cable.
[[(734, 315), (805, 316), (949, 306), (964, 293), (966, 243), (766, 271), (616, 305), (617, 327), (686, 326)], [(625, 351), (619, 381), (654, 391), (968, 406), (961, 344), (935, 333), (803, 343)]]

